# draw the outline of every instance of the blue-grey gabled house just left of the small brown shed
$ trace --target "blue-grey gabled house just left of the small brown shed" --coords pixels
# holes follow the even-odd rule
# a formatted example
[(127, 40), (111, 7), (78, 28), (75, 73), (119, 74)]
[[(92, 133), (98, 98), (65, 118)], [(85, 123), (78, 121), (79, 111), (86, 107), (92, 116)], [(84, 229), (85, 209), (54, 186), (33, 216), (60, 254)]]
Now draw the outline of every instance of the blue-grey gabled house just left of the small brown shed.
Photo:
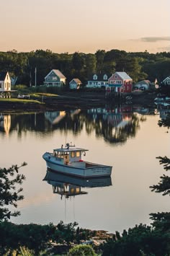
[(45, 76), (44, 85), (47, 87), (62, 87), (66, 84), (66, 76), (58, 69), (53, 69)]

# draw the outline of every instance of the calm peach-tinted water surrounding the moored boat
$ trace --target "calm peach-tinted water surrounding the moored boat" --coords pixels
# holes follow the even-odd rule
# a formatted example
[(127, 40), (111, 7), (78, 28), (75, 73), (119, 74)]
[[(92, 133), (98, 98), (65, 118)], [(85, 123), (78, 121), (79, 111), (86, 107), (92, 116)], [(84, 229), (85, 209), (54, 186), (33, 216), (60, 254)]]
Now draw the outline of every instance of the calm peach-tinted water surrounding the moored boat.
[[(155, 111), (154, 107), (148, 110), (128, 105), (5, 114), (0, 120), (0, 166), (27, 162), (20, 169), (26, 176), (24, 200), (18, 204), (21, 216), (12, 221), (77, 221), (83, 228), (114, 232), (150, 224), (149, 213), (169, 211), (169, 197), (149, 188), (164, 173), (156, 156), (169, 156), (169, 133), (158, 126), (165, 115), (164, 110)], [(47, 173), (42, 154), (66, 142), (89, 149), (84, 159), (112, 165), (112, 177), (82, 181)], [(77, 195), (61, 195), (64, 185)]]

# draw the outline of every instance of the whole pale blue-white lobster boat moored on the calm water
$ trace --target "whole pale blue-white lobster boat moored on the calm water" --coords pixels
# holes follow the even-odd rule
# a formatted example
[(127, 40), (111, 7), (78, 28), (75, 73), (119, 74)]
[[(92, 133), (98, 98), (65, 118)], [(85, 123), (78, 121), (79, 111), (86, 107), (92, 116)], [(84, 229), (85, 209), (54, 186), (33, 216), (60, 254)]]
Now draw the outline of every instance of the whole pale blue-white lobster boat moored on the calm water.
[(42, 155), (48, 168), (55, 172), (77, 177), (104, 177), (110, 176), (112, 167), (104, 164), (94, 164), (81, 159), (88, 149), (80, 149), (75, 145), (66, 144), (60, 149), (53, 149), (53, 153)]

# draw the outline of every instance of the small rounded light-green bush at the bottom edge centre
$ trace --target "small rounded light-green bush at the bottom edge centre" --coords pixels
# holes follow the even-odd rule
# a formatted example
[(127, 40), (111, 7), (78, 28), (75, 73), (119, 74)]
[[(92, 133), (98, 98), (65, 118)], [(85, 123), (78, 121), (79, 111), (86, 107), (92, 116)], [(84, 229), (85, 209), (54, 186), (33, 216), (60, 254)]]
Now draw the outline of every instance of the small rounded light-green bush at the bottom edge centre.
[(68, 256), (95, 256), (95, 252), (90, 245), (76, 245), (68, 252)]

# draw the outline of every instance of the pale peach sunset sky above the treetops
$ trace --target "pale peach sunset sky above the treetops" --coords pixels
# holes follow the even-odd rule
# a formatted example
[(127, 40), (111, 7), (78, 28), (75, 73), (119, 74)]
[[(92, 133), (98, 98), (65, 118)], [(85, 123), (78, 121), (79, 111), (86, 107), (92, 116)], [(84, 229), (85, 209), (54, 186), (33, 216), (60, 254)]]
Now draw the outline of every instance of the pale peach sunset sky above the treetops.
[(0, 51), (170, 51), (169, 0), (0, 0)]

